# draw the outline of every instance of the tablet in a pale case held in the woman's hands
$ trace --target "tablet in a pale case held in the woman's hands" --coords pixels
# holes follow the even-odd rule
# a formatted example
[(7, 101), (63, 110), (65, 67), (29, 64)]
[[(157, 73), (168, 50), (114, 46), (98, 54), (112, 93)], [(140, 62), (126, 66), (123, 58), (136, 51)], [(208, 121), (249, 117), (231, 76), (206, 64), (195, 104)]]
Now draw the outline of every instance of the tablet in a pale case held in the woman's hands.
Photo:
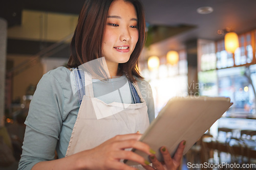
[[(156, 151), (157, 159), (163, 161), (160, 147), (165, 146), (173, 156), (179, 143), (186, 140), (184, 155), (232, 104), (225, 97), (190, 96), (170, 99), (140, 141), (150, 145)], [(144, 152), (134, 152), (150, 161)], [(131, 160), (124, 162), (128, 165), (138, 164)]]

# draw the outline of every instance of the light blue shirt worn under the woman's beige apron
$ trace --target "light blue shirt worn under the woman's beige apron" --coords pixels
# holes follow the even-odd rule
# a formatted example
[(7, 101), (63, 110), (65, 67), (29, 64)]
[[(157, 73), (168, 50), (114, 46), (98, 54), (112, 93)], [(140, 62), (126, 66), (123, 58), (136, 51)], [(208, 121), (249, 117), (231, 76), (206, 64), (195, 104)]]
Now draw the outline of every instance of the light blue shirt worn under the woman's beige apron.
[[(31, 169), (40, 161), (53, 160), (55, 149), (59, 158), (65, 157), (79, 110), (70, 73), (66, 67), (58, 67), (47, 72), (39, 81), (25, 122), (27, 127), (18, 169)], [(152, 122), (155, 111), (151, 87), (146, 81), (137, 80)], [(120, 88), (118, 90), (115, 87)], [(105, 103), (132, 103), (131, 90), (125, 76), (108, 82), (93, 80), (93, 91), (94, 96)]]

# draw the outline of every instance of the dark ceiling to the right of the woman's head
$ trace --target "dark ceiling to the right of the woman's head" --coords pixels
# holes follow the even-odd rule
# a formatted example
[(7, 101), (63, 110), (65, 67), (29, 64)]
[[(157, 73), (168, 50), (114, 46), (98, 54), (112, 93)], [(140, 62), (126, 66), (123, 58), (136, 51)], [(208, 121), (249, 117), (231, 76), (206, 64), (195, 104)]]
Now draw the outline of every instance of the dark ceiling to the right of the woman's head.
[[(217, 34), (219, 29), (230, 27), (238, 34), (256, 29), (255, 0), (144, 0), (143, 4), (146, 20), (151, 24), (195, 26), (167, 41), (172, 42), (169, 47), (176, 50), (191, 39), (224, 39)], [(197, 13), (197, 9), (204, 6), (212, 7), (214, 12)]]

